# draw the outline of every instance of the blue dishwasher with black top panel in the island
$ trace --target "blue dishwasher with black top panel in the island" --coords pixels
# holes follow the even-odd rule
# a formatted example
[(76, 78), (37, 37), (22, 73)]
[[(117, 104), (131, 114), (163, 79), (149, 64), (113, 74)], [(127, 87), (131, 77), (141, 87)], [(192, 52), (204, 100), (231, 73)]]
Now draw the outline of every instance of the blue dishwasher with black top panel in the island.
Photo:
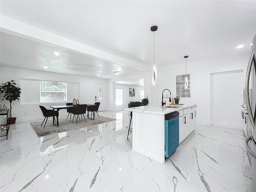
[(179, 146), (178, 111), (168, 113), (165, 117), (165, 156), (168, 158)]

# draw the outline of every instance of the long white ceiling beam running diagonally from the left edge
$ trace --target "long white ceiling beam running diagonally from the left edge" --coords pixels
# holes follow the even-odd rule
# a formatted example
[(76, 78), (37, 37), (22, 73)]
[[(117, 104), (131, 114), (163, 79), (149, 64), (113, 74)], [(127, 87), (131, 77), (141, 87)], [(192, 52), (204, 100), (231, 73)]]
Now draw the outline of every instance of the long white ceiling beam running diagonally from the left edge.
[(135, 68), (137, 70), (146, 70), (146, 71), (151, 70), (150, 66), (147, 66), (145, 64), (134, 62), (125, 58), (121, 58), (116, 55), (103, 52), (101, 50), (97, 50), (95, 48), (91, 48), (84, 44), (80, 44), (78, 42), (47, 32), (40, 28), (36, 28), (34, 26), (20, 22), (18, 20), (14, 20), (12, 18), (3, 16), (3, 15), (0, 15), (0, 18), (1, 18), (0, 28), (2, 32), (12, 34), (15, 36), (20, 36), (22, 38), (33, 40), (36, 42), (41, 42), (44, 44), (54, 45), (58, 47), (60, 46), (61, 48), (64, 48), (64, 49), (66, 48), (73, 52), (77, 52), (80, 54), (82, 53), (82, 54), (86, 54), (96, 58), (108, 60), (108, 61), (117, 63), (121, 66), (127, 66), (131, 68)]

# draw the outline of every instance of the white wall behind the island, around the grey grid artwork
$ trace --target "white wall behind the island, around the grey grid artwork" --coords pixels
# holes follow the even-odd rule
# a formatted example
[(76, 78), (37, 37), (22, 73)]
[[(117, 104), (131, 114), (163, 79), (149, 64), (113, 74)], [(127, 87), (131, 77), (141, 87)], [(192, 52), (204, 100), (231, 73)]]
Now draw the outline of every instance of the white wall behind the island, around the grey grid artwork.
[[(187, 74), (190, 74), (190, 98), (181, 98), (180, 103), (198, 104), (198, 124), (210, 125), (210, 74), (216, 72), (244, 70), (246, 71), (250, 54), (240, 54), (232, 57), (215, 58), (189, 62), (187, 59)], [(152, 86), (152, 104), (161, 104), (162, 90), (169, 89), (176, 96), (176, 75), (186, 73), (185, 62), (157, 68), (158, 79)], [(244, 78), (245, 78), (244, 73)], [(244, 84), (244, 80), (243, 80)], [(240, 92), (240, 90), (237, 90)], [(240, 103), (237, 103), (240, 105)], [(230, 109), (232, 110), (232, 109)], [(238, 111), (240, 114), (241, 112)]]

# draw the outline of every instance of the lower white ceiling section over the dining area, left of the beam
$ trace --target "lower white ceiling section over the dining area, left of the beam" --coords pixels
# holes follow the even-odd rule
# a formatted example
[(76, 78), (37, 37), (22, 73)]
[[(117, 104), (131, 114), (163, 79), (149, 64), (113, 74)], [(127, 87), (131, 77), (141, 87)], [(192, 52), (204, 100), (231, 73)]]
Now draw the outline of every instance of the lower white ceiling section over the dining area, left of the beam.
[[(1, 66), (99, 78), (112, 78), (137, 71), (134, 68), (121, 66), (101, 58), (72, 52), (58, 46), (43, 44), (4, 32), (1, 32), (0, 40)], [(58, 52), (60, 55), (56, 56), (54, 52)], [(81, 65), (80, 71), (71, 69), (72, 66)], [(48, 68), (44, 69), (44, 66)]]

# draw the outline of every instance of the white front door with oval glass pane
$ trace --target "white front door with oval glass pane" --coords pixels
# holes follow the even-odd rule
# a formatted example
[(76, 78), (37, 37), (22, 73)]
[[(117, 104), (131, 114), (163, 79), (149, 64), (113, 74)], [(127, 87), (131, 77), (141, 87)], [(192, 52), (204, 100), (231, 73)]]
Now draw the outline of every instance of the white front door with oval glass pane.
[(99, 111), (106, 110), (106, 85), (105, 84), (95, 84), (94, 85), (94, 98), (95, 102), (100, 102)]

